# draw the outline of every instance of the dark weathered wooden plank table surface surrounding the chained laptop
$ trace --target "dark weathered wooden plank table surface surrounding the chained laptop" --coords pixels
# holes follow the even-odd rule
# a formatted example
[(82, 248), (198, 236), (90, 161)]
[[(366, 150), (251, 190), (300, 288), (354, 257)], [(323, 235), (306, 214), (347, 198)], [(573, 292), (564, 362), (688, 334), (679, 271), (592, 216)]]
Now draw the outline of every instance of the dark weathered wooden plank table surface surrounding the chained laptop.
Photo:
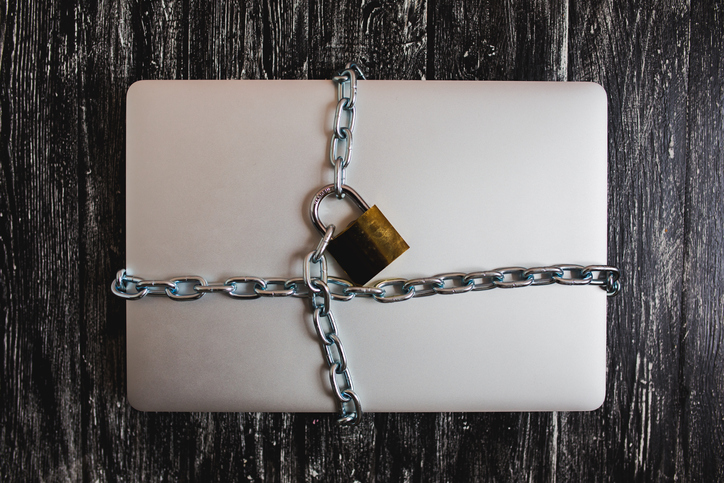
[[(630, 4), (629, 4), (630, 3)], [(0, 1), (6, 481), (724, 481), (724, 6)], [(587, 80), (609, 96), (607, 397), (590, 413), (156, 414), (125, 398), (138, 79)], [(585, 186), (563, 189), (580, 190)], [(484, 193), (480, 196), (484, 198)]]

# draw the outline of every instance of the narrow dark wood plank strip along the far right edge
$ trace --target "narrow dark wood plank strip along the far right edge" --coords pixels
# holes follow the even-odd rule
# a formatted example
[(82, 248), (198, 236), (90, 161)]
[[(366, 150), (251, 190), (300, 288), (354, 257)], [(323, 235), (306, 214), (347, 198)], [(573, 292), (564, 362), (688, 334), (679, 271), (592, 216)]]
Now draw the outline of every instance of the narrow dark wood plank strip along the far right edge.
[(689, 481), (724, 481), (724, 7), (692, 2), (680, 337)]

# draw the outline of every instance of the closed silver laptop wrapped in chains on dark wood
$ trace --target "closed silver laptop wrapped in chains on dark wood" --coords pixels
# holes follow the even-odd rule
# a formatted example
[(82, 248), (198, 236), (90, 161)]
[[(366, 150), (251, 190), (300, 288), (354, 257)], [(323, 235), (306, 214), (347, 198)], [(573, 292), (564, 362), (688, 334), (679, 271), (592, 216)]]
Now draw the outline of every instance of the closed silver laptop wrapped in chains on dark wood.
[[(347, 184), (410, 248), (375, 280), (603, 265), (607, 101), (592, 83), (359, 82)], [(290, 279), (333, 182), (336, 86), (141, 81), (127, 99), (126, 269)], [(361, 212), (327, 198), (324, 223)], [(344, 272), (329, 260), (330, 275)], [(606, 293), (558, 284), (333, 301), (366, 412), (579, 411), (605, 396)], [(335, 412), (308, 300), (127, 302), (143, 411)]]

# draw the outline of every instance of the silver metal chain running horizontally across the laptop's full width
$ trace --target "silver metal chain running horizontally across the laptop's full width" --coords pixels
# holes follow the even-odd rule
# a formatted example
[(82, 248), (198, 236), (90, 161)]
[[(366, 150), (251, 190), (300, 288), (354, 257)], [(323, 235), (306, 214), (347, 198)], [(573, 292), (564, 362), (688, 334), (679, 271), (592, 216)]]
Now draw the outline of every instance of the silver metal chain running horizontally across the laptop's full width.
[[(313, 261), (313, 254), (308, 256)], [(320, 259), (323, 259), (320, 257)], [(137, 300), (147, 295), (165, 295), (172, 300), (195, 300), (207, 293), (223, 293), (237, 299), (260, 297), (309, 297), (309, 274), (296, 278), (232, 277), (224, 282), (207, 282), (199, 276), (175, 277), (169, 280), (145, 280), (120, 270), (111, 284), (119, 297)], [(349, 302), (355, 297), (372, 297), (390, 303), (430, 295), (451, 295), (496, 288), (520, 288), (538, 285), (597, 285), (616, 295), (621, 290), (619, 271), (607, 265), (550, 265), (523, 268), (505, 267), (479, 272), (452, 272), (427, 278), (393, 278), (372, 286), (354, 285), (347, 279), (328, 277), (325, 281), (332, 300)], [(312, 290), (320, 290), (312, 286)], [(315, 292), (316, 293), (316, 292)]]

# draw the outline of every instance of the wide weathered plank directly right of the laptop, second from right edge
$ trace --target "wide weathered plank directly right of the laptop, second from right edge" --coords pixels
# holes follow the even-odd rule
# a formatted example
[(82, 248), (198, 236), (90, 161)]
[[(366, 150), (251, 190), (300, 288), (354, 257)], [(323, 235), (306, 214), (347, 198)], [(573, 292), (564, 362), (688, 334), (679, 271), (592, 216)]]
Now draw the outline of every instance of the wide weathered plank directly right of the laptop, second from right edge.
[(609, 304), (606, 402), (562, 427), (559, 474), (669, 481), (681, 476), (688, 5), (572, 2), (570, 22), (569, 78), (608, 92), (609, 262), (625, 288)]

